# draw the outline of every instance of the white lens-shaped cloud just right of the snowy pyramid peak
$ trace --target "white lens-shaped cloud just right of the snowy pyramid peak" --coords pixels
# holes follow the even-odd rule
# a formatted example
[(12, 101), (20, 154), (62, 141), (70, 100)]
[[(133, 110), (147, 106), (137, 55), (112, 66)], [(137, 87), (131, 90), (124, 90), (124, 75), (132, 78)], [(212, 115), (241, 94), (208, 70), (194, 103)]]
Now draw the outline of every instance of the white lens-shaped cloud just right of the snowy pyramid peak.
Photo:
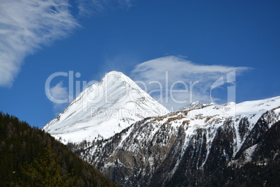
[[(210, 88), (214, 82), (226, 75), (238, 76), (249, 69), (201, 65), (183, 57), (168, 56), (139, 63), (132, 70), (131, 76), (167, 109), (177, 110), (196, 100), (204, 103), (214, 101), (210, 97)], [(235, 77), (230, 79), (235, 80)], [(180, 91), (173, 91), (171, 94), (171, 88)]]

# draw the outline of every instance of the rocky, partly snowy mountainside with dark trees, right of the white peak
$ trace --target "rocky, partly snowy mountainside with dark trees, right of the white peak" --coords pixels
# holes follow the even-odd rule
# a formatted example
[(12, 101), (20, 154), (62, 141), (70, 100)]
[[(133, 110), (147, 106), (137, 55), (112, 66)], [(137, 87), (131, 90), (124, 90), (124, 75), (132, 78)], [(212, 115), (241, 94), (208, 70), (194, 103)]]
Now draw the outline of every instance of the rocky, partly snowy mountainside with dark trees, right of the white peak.
[(193, 105), (68, 147), (122, 186), (280, 184), (280, 96)]

